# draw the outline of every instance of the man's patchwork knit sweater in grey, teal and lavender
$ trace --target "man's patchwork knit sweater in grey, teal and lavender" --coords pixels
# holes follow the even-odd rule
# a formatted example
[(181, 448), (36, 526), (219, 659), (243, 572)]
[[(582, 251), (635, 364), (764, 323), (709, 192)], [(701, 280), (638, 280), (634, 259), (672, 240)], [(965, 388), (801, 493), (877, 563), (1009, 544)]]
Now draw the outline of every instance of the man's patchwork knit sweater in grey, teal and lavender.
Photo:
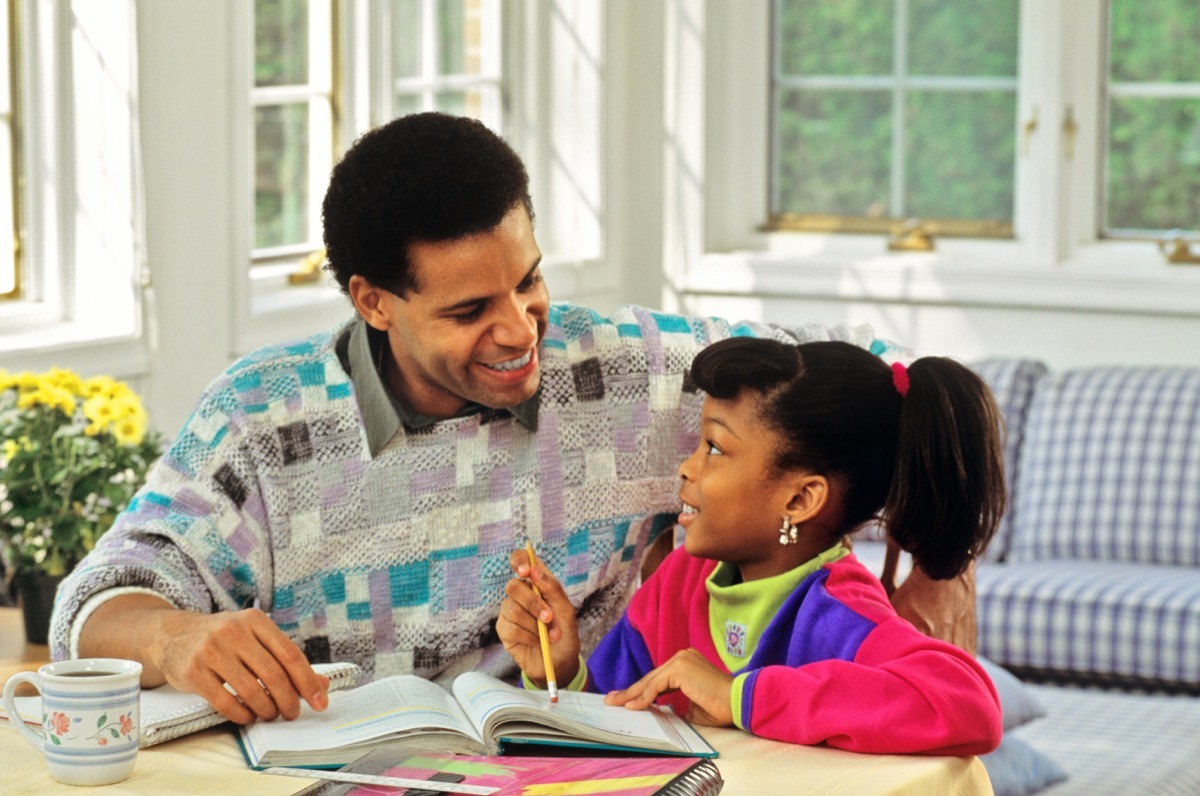
[[(146, 485), (60, 591), (52, 654), (106, 598), (202, 612), (257, 605), (311, 662), (368, 677), (514, 672), (494, 621), (532, 539), (578, 609), (584, 648), (619, 617), (648, 541), (679, 510), (702, 396), (685, 375), (732, 335), (848, 340), (624, 307), (554, 304), (536, 431), (485, 411), (401, 430), (372, 457), (335, 343), (270, 346), (212, 382)], [(878, 345), (878, 343), (875, 343)]]

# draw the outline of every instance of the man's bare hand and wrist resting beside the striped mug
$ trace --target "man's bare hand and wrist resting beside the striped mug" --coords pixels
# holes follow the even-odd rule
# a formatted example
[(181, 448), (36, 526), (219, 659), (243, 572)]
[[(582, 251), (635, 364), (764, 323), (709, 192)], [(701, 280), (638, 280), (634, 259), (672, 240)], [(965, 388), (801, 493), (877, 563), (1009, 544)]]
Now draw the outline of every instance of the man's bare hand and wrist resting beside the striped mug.
[(292, 720), (300, 716), (301, 699), (317, 711), (329, 706), (329, 678), (313, 671), (258, 609), (196, 614), (149, 594), (127, 594), (88, 618), (79, 653), (137, 660), (144, 687), (167, 682), (198, 694), (238, 724), (280, 716)]

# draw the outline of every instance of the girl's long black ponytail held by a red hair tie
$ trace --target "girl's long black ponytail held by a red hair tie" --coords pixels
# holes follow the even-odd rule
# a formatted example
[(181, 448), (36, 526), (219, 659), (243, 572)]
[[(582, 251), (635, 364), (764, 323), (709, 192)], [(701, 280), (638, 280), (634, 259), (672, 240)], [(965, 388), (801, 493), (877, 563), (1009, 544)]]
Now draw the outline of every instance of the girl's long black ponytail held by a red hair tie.
[(947, 580), (984, 551), (1004, 513), (1003, 421), (984, 381), (952, 359), (893, 366), (893, 382), (904, 406), (883, 516), (913, 562)]

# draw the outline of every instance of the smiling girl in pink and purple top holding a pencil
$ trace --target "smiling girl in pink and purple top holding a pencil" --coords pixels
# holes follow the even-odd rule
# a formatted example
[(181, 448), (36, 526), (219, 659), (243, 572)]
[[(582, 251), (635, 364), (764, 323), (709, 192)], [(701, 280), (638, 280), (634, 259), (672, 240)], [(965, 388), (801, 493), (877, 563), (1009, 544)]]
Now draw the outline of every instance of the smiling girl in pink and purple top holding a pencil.
[(948, 359), (889, 367), (848, 343), (750, 337), (709, 346), (691, 376), (707, 396), (679, 466), (684, 546), (586, 665), (562, 586), (515, 551), (497, 632), (526, 684), (546, 682), (541, 618), (558, 683), (612, 705), (853, 752), (994, 749), (988, 675), (900, 618), (844, 541), (880, 516), (929, 576), (971, 564), (1004, 508), (986, 385)]

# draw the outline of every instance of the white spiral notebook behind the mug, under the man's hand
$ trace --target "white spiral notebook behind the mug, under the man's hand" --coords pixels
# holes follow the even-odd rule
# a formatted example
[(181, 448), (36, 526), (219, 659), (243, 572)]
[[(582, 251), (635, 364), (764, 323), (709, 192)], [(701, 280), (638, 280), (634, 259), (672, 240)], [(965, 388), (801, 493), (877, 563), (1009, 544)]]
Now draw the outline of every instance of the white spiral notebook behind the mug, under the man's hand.
[[(331, 692), (355, 686), (362, 674), (353, 663), (313, 664), (313, 669), (329, 677)], [(17, 712), (25, 724), (42, 726), (40, 696), (18, 696), (16, 701)], [(7, 718), (2, 707), (0, 717)], [(227, 720), (196, 694), (185, 694), (170, 686), (148, 688), (142, 692), (142, 738), (138, 746), (144, 749)]]

